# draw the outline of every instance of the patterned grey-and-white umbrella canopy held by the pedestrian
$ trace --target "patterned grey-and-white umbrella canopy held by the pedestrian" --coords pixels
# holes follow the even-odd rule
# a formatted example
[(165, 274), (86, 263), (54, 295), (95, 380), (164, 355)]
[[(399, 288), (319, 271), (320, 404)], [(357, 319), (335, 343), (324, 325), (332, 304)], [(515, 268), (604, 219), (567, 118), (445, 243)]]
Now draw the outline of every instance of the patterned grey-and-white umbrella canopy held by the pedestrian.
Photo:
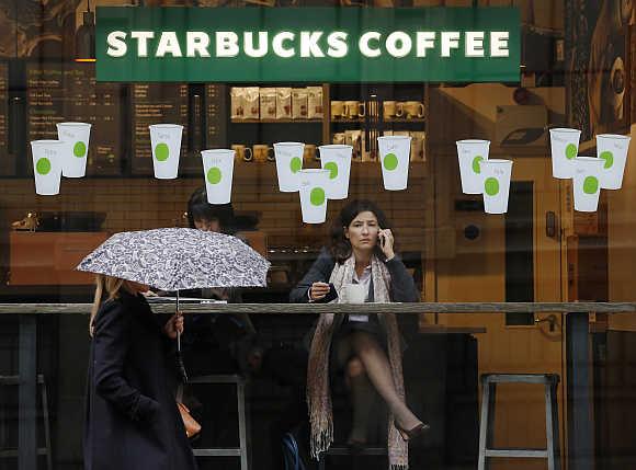
[(269, 268), (236, 237), (186, 228), (115, 233), (77, 266), (161, 290), (264, 287)]

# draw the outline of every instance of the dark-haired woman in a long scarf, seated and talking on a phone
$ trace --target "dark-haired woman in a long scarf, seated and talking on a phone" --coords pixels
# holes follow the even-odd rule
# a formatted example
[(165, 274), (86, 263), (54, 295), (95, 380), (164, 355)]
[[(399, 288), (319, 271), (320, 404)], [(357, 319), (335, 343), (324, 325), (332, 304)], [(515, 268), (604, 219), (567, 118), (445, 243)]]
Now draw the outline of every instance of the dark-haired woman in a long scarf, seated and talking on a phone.
[[(394, 236), (382, 210), (370, 200), (348, 204), (336, 220), (330, 247), (289, 295), (292, 302), (338, 301), (347, 284), (363, 286), (367, 302), (416, 302), (412, 277), (394, 252)], [(330, 381), (344, 376), (353, 404), (348, 445), (367, 443), (377, 392), (389, 411), (388, 457), (391, 469), (408, 468), (407, 442), (427, 431), (405, 403), (401, 336), (393, 313), (334, 316), (318, 320), (309, 352), (307, 401), (311, 454), (333, 440)], [(330, 370), (331, 368), (331, 370)]]

